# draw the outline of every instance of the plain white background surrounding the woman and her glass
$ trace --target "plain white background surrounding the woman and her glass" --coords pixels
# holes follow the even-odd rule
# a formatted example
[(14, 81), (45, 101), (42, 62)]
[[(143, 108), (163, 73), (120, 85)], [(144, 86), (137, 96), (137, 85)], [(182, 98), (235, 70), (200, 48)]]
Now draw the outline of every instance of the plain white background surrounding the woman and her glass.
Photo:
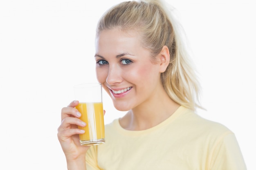
[[(0, 169), (65, 170), (57, 139), (73, 86), (96, 81), (99, 17), (121, 0), (0, 1)], [(238, 139), (248, 170), (256, 152), (256, 5), (251, 0), (170, 0), (200, 73), (202, 117)], [(104, 95), (105, 121), (116, 111)]]

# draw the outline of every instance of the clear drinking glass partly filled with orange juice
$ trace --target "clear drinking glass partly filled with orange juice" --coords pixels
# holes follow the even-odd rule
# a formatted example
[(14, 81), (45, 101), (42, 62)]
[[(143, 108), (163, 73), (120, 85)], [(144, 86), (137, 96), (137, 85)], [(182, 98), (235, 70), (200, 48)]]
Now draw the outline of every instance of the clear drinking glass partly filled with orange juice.
[(79, 135), (81, 145), (99, 145), (105, 143), (105, 126), (102, 104), (102, 88), (98, 83), (79, 84), (74, 86), (76, 109), (81, 113), (80, 119), (86, 123), (85, 130)]

